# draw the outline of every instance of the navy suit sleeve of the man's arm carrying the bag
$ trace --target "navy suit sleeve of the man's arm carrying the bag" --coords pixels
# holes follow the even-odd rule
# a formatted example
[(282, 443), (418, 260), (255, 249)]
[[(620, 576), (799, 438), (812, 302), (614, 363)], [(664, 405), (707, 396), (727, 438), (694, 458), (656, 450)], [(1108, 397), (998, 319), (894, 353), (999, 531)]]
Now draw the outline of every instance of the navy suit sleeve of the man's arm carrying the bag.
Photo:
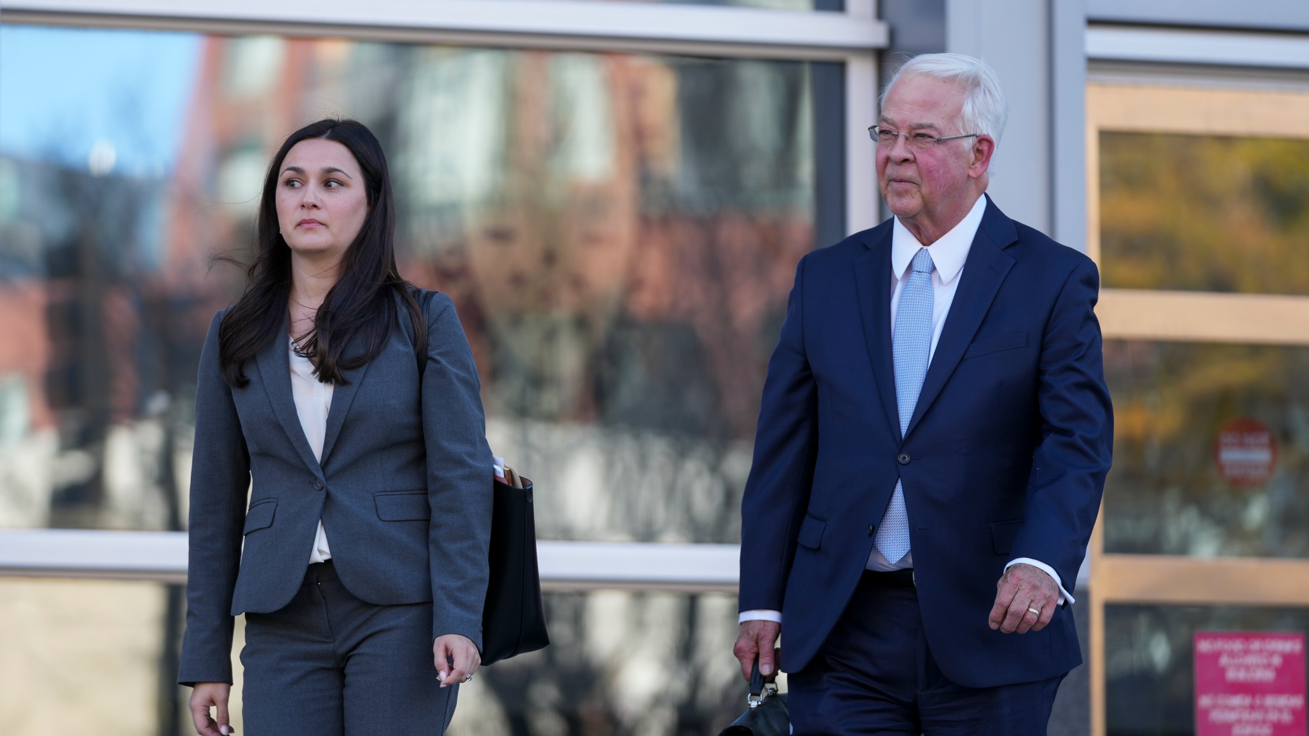
[(741, 588), (737, 610), (781, 610), (796, 536), (809, 504), (818, 399), (805, 355), (805, 261), (787, 301), (781, 338), (768, 359), (754, 464), (741, 502)]

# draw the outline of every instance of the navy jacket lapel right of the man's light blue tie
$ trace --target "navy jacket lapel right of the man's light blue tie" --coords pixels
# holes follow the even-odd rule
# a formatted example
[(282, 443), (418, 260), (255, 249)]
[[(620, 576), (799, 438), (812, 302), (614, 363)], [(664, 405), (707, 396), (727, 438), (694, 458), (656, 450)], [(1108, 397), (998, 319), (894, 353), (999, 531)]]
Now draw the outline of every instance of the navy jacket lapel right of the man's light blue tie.
[(1000, 284), (1004, 283), (1009, 268), (1013, 267), (1013, 258), (1004, 249), (1016, 240), (1018, 240), (1018, 232), (1013, 227), (1013, 220), (1005, 217), (988, 196), (982, 225), (978, 227), (973, 246), (969, 249), (969, 257), (963, 262), (959, 287), (954, 292), (950, 313), (945, 317), (945, 326), (941, 329), (941, 339), (936, 343), (932, 363), (927, 368), (927, 377), (918, 394), (914, 416), (905, 432), (906, 437), (918, 426), (923, 414), (931, 409), (941, 389), (945, 388), (945, 382), (954, 373), (959, 360), (963, 359), (963, 351), (973, 342), (973, 335), (982, 326), (995, 295), (1000, 291)]

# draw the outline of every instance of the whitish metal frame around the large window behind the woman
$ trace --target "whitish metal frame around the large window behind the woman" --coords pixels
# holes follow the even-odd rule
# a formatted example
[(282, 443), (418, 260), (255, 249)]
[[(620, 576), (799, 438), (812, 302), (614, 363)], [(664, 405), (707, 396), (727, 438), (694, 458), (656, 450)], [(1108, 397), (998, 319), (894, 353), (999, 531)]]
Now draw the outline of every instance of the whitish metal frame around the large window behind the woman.
[[(14, 0), (5, 4), (3, 22), (835, 62), (843, 65), (838, 113), (843, 172), (834, 172), (835, 181), (829, 177), (823, 190), (844, 191), (838, 194), (839, 206), (827, 211), (843, 219), (844, 234), (880, 220), (874, 151), (864, 131), (877, 119), (877, 52), (888, 46), (889, 30), (874, 17), (872, 0), (847, 0), (843, 12), (585, 0), (374, 0), (329, 3), (315, 8), (313, 22), (305, 22), (302, 5), (291, 0)], [(185, 532), (0, 529), (0, 576), (182, 583), (185, 540)], [(737, 545), (541, 541), (538, 550), (542, 584), (551, 591), (696, 593), (737, 587)]]

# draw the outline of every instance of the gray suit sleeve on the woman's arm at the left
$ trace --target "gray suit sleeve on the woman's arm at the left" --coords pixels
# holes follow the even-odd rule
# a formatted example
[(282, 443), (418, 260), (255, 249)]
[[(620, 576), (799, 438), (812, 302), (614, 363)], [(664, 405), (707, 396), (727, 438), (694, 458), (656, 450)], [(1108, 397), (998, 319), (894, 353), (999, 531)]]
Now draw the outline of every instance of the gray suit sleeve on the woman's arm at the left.
[(232, 388), (219, 368), (213, 317), (200, 352), (191, 460), (186, 635), (178, 682), (232, 682), (232, 595), (241, 566), (241, 530), (250, 490), (250, 454)]

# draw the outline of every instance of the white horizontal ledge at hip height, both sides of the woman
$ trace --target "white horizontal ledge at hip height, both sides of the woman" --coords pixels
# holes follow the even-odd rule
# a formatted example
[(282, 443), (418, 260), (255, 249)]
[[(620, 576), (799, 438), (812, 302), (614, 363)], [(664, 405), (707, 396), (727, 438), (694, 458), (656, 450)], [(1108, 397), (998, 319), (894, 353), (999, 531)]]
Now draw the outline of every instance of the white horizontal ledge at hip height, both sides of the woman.
[[(186, 580), (186, 532), (0, 530), (0, 575)], [(734, 591), (741, 547), (649, 542), (537, 542), (552, 591)]]

